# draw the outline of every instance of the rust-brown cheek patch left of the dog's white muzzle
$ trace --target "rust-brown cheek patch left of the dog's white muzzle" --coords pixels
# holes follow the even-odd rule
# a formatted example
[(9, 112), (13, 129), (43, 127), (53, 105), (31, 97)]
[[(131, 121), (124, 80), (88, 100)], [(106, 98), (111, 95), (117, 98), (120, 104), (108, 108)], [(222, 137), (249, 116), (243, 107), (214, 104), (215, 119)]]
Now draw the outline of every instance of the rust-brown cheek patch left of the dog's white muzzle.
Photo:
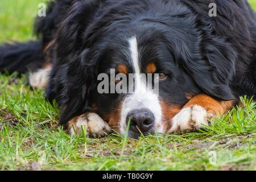
[(109, 114), (102, 116), (109, 126), (117, 132), (120, 131), (121, 106), (122, 103), (120, 102)]

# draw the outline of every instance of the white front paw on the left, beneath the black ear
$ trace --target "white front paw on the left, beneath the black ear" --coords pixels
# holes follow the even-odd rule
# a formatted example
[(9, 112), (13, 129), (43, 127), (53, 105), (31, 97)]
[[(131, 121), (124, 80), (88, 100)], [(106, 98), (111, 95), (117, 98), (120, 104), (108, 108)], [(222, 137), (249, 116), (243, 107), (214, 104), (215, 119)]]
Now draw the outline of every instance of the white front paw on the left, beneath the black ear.
[(82, 129), (86, 130), (87, 137), (101, 138), (108, 135), (111, 131), (109, 124), (106, 123), (98, 114), (88, 113), (80, 117), (73, 118), (69, 122), (69, 133), (71, 135), (82, 135)]

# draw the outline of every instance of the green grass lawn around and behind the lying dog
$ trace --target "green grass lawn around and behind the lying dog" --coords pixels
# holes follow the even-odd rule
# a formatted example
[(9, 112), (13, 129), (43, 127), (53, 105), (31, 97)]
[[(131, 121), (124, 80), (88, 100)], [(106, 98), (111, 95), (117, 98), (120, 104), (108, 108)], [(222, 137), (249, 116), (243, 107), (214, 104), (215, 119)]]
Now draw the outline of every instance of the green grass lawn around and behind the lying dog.
[[(0, 2), (0, 42), (32, 37), (40, 0)], [(256, 1), (250, 1), (256, 8)], [(127, 139), (71, 137), (57, 127), (59, 109), (27, 75), (0, 75), (2, 170), (255, 170), (256, 104), (243, 99), (199, 133)]]

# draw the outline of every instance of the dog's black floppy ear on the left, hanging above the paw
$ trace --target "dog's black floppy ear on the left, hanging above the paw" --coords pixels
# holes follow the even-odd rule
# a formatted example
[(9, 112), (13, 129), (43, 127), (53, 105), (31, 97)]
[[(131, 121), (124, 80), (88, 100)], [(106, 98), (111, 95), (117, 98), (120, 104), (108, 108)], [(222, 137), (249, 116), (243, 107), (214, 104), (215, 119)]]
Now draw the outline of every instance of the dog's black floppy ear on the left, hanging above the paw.
[(86, 111), (92, 111), (89, 106), (90, 92), (96, 85), (97, 61), (87, 59), (87, 51), (83, 51), (80, 56), (71, 53), (67, 57), (70, 62), (58, 65), (55, 70), (53, 93), (61, 109), (60, 125)]

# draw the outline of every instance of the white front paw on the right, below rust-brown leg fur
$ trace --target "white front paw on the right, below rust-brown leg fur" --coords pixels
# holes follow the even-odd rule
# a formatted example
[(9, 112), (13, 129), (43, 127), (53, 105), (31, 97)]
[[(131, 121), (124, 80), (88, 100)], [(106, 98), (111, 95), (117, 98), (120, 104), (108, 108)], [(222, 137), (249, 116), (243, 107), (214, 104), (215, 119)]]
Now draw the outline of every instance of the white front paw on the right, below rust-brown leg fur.
[(203, 125), (209, 125), (209, 119), (215, 115), (199, 105), (182, 109), (172, 119), (170, 133), (188, 133), (197, 131)]

